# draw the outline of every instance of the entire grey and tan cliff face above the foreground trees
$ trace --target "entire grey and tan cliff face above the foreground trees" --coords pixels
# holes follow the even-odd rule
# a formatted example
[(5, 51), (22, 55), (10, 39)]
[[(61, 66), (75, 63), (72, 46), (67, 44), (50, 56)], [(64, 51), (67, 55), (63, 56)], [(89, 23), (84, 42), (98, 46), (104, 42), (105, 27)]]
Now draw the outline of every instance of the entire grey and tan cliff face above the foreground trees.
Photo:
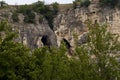
[(93, 0), (88, 8), (77, 7), (61, 10), (54, 18), (54, 31), (50, 29), (46, 19), (39, 23), (39, 16), (35, 13), (35, 23), (24, 23), (24, 16), (19, 14), (19, 22), (15, 23), (11, 19), (14, 8), (9, 10), (0, 10), (0, 20), (7, 18), (13, 26), (14, 31), (19, 32), (19, 38), (16, 41), (21, 42), (31, 49), (42, 47), (43, 36), (48, 36), (50, 45), (59, 46), (63, 39), (66, 39), (71, 46), (74, 46), (75, 37), (79, 39), (78, 44), (85, 43), (87, 28), (85, 22), (91, 20), (92, 23), (108, 24), (108, 30), (112, 33), (120, 34), (120, 10), (101, 8), (98, 1)]

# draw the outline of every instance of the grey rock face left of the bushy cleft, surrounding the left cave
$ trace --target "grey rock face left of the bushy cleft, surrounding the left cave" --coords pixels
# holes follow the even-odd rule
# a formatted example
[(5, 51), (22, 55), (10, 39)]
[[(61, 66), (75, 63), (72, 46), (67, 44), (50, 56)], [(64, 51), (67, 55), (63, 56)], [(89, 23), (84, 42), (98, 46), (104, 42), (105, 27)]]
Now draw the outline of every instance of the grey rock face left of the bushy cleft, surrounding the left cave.
[(43, 18), (42, 22), (39, 23), (39, 16), (35, 13), (35, 24), (24, 23), (24, 15), (18, 14), (19, 22), (13, 22), (12, 12), (14, 10), (14, 8), (1, 10), (0, 20), (7, 19), (12, 25), (13, 31), (18, 32), (19, 38), (15, 39), (16, 42), (23, 43), (29, 48), (35, 49), (43, 46), (41, 38), (46, 35), (48, 36), (50, 46), (57, 46), (55, 33), (50, 29), (46, 19)]

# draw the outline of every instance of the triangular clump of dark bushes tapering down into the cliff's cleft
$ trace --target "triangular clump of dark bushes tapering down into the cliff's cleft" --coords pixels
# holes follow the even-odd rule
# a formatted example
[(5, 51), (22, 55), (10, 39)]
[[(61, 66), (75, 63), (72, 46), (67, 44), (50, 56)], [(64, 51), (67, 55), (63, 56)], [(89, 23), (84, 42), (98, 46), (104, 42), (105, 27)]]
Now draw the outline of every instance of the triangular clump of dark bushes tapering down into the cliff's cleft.
[[(44, 16), (44, 18), (48, 21), (50, 28), (53, 30), (53, 19), (57, 15), (59, 4), (55, 2), (51, 5), (45, 5), (44, 2), (38, 1), (32, 6), (35, 12)], [(53, 9), (51, 9), (51, 6)]]

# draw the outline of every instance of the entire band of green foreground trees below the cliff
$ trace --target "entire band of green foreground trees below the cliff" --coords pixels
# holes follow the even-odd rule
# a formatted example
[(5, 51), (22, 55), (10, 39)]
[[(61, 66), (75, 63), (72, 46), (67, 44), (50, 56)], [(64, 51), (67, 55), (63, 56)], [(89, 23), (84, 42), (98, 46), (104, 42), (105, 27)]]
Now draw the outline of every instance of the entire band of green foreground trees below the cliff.
[(16, 35), (6, 21), (0, 22), (0, 80), (120, 80), (119, 56), (114, 56), (120, 51), (118, 36), (106, 26), (88, 23), (88, 28), (88, 42), (76, 45), (68, 58), (64, 43), (31, 52), (13, 41)]

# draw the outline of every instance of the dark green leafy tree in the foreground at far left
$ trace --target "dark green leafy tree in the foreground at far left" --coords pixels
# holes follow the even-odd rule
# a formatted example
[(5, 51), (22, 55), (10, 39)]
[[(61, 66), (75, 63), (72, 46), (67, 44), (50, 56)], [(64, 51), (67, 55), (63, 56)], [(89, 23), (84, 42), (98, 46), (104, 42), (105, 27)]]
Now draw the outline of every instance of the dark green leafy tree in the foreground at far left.
[(21, 80), (28, 50), (15, 43), (15, 33), (6, 21), (0, 22), (0, 79)]

